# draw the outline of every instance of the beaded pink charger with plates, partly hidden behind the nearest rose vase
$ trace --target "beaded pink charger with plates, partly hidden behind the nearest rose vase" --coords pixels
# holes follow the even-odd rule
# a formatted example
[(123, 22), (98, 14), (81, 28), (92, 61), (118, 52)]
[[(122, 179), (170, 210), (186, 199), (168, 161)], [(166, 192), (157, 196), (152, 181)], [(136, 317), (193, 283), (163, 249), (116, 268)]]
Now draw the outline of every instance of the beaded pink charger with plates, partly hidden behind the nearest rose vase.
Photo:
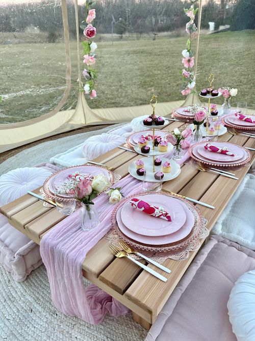
[(104, 167), (100, 166), (73, 166), (62, 169), (53, 175), (50, 175), (43, 184), (43, 192), (46, 194), (47, 197), (54, 198), (54, 182), (56, 179), (58, 182), (64, 182), (68, 179), (69, 174), (73, 174), (75, 172), (79, 172), (80, 174), (91, 174), (91, 175), (98, 175), (104, 174), (110, 180), (111, 185), (115, 182), (115, 174)]

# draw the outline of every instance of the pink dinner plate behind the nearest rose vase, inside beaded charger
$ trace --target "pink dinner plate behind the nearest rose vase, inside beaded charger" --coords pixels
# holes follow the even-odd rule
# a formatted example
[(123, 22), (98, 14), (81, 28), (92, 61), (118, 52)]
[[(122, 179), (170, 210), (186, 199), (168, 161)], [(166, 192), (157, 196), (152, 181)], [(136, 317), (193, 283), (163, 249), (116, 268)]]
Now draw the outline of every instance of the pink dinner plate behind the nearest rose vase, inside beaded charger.
[(110, 180), (110, 174), (107, 169), (102, 167), (94, 167), (94, 166), (77, 166), (72, 168), (63, 169), (62, 172), (58, 172), (56, 176), (53, 176), (49, 179), (48, 189), (50, 192), (54, 193), (54, 182), (58, 179), (58, 182), (64, 182), (68, 179), (69, 174), (73, 174), (75, 172), (80, 172), (80, 174), (91, 174), (91, 175), (98, 175), (104, 174)]

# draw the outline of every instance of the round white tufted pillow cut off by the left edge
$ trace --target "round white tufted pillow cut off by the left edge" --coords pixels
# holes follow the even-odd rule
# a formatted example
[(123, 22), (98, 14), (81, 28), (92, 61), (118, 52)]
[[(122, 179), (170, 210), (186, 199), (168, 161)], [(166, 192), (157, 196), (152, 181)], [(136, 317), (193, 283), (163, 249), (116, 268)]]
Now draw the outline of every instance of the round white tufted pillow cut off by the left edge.
[(0, 176), (0, 207), (41, 186), (52, 172), (36, 167), (17, 168)]

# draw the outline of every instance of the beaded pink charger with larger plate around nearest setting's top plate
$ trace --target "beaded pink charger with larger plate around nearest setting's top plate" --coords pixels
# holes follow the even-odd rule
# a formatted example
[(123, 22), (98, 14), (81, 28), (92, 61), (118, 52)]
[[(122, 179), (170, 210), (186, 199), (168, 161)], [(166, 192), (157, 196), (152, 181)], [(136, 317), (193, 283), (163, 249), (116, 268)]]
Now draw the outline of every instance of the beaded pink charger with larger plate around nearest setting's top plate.
[[(137, 195), (132, 195), (130, 197), (122, 199), (115, 207), (115, 210), (112, 213), (111, 222), (114, 233), (122, 240), (127, 242), (129, 245), (133, 246), (135, 249), (141, 249), (148, 252), (180, 252), (185, 249), (191, 242), (199, 239), (201, 234), (201, 229), (203, 224), (205, 223), (205, 219), (203, 219), (198, 211), (198, 209), (186, 199), (176, 197), (171, 195), (170, 193), (165, 192), (154, 192), (151, 194), (156, 194), (159, 196), (168, 196), (173, 197), (178, 202), (182, 202), (186, 207), (183, 206), (183, 209), (186, 213), (186, 221), (181, 229), (178, 231), (166, 235), (166, 236), (143, 236), (137, 234), (129, 229), (123, 224), (121, 220), (121, 208), (123, 204), (133, 198), (134, 196), (144, 196), (144, 200), (146, 201), (147, 193), (138, 193)], [(117, 221), (118, 219), (118, 221)], [(156, 218), (160, 219), (160, 218)]]

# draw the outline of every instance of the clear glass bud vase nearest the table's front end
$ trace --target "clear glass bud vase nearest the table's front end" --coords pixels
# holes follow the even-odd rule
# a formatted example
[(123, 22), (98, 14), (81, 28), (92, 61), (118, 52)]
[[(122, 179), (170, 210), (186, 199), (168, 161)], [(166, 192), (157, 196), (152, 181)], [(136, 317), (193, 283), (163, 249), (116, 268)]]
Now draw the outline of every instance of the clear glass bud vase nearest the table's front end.
[(83, 231), (93, 230), (100, 222), (98, 212), (94, 204), (92, 205), (82, 202), (80, 218)]

